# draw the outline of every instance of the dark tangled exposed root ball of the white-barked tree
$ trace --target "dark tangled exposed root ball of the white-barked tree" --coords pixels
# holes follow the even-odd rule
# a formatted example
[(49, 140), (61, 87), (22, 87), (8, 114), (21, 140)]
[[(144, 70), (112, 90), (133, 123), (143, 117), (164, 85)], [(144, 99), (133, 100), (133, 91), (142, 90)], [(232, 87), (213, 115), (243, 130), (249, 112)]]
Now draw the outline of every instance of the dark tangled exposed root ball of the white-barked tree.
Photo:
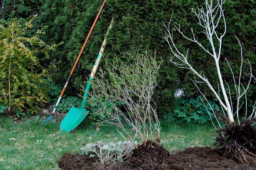
[(227, 125), (218, 131), (216, 145), (222, 147), (221, 153), (238, 163), (256, 163), (256, 128), (251, 125), (256, 121), (244, 120), (240, 126)]

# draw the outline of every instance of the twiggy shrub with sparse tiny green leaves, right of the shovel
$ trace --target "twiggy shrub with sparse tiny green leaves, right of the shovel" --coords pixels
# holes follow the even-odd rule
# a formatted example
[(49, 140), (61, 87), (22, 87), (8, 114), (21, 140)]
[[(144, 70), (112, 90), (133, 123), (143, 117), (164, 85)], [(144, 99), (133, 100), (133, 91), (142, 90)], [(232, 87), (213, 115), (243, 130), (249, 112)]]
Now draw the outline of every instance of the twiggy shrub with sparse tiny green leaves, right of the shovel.
[[(148, 139), (160, 139), (160, 123), (152, 95), (158, 84), (161, 63), (147, 54), (138, 54), (130, 64), (107, 63), (108, 78), (101, 70), (92, 85), (91, 102), (99, 105), (96, 114), (103, 117), (105, 125), (116, 125), (123, 129), (124, 133), (120, 134), (132, 141), (136, 149), (137, 145), (133, 143), (136, 135), (144, 145)], [(124, 124), (130, 127), (124, 128)], [(130, 130), (136, 132), (134, 136)]]

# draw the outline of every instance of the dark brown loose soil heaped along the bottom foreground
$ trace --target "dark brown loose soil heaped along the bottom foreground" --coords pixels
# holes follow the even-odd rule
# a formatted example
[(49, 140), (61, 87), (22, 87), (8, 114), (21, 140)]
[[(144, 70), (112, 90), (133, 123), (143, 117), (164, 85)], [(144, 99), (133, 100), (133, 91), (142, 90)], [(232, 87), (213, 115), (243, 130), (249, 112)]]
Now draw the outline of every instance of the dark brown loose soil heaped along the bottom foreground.
[[(96, 158), (90, 159), (83, 155), (72, 155), (70, 153), (62, 156), (58, 162), (63, 170), (96, 169), (92, 164)], [(171, 170), (171, 169), (256, 169), (256, 164), (238, 164), (232, 159), (220, 156), (220, 149), (208, 147), (187, 148), (184, 151), (170, 154), (167, 150), (156, 143), (147, 142), (147, 146), (140, 145), (130, 159), (121, 164), (107, 165), (105, 170)]]

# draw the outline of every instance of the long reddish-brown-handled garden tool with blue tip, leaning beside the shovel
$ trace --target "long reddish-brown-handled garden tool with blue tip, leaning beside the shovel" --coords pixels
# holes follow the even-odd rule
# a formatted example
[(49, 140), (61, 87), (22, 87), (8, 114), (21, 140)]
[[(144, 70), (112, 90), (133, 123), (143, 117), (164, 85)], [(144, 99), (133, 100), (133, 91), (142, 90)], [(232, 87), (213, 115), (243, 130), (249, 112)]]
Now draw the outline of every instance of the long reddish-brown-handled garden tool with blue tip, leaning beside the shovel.
[(92, 30), (93, 30), (95, 24), (97, 23), (97, 21), (98, 21), (98, 19), (99, 19), (99, 17), (100, 17), (100, 12), (102, 11), (102, 9), (103, 9), (103, 7), (104, 7), (105, 2), (106, 2), (106, 0), (103, 1), (102, 5), (101, 5), (101, 7), (100, 7), (100, 11), (98, 12), (98, 14), (97, 14), (97, 16), (96, 16), (96, 18), (95, 18), (95, 20), (94, 20), (94, 22), (93, 22), (93, 24), (92, 24), (92, 27), (91, 27), (91, 29), (90, 29), (90, 31), (89, 31), (89, 33), (88, 33), (88, 35), (87, 35), (87, 37), (86, 37), (86, 39), (85, 39), (85, 41), (84, 41), (84, 45), (83, 45), (83, 47), (81, 48), (78, 57), (76, 58), (76, 62), (75, 62), (74, 66), (73, 66), (73, 68), (72, 68), (72, 70), (71, 70), (71, 72), (70, 72), (70, 74), (69, 74), (68, 80), (66, 81), (66, 83), (65, 83), (65, 85), (64, 85), (64, 87), (63, 87), (63, 89), (62, 89), (62, 91), (61, 91), (61, 93), (60, 93), (60, 97), (59, 97), (59, 99), (58, 99), (58, 101), (57, 101), (57, 103), (56, 103), (54, 109), (52, 110), (52, 114), (51, 114), (51, 116), (50, 116), (48, 119), (46, 119), (46, 120), (44, 121), (45, 123), (51, 122), (51, 118), (52, 118), (52, 116), (55, 114), (55, 112), (56, 112), (56, 110), (57, 110), (57, 107), (58, 107), (59, 104), (60, 104), (61, 98), (62, 98), (62, 96), (63, 96), (63, 94), (64, 94), (64, 92), (65, 92), (65, 90), (66, 90), (66, 88), (67, 88), (67, 86), (68, 86), (68, 82), (69, 82), (71, 76), (73, 75), (73, 73), (74, 73), (74, 71), (75, 71), (75, 69), (76, 69), (76, 65), (78, 64), (78, 61), (79, 61), (79, 59), (80, 59), (80, 57), (81, 57), (81, 55), (82, 55), (82, 53), (83, 53), (83, 51), (84, 51), (84, 48), (85, 48), (85, 46), (86, 46), (86, 44), (87, 44), (87, 42), (88, 42), (88, 40), (89, 40), (89, 38), (90, 38), (90, 36), (91, 36)]

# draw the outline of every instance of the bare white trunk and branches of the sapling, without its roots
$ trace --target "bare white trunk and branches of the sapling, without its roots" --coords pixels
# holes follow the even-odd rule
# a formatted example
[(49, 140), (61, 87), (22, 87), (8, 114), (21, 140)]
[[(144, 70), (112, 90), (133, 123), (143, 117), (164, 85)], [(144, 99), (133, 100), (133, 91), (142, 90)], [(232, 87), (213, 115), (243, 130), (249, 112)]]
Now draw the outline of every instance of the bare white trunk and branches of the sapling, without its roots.
[[(172, 54), (174, 55), (172, 58), (171, 58), (171, 62), (176, 65), (177, 67), (180, 67), (180, 68), (183, 68), (183, 69), (189, 69), (191, 70), (193, 73), (196, 74), (196, 76), (198, 76), (198, 78), (200, 78), (201, 80), (203, 80), (203, 82), (205, 82), (209, 88), (211, 89), (211, 91), (213, 92), (213, 94), (216, 96), (216, 98), (219, 100), (220, 102), (220, 106), (222, 107), (222, 111), (223, 111), (223, 116), (225, 116), (227, 119), (228, 119), (228, 122), (231, 123), (231, 124), (234, 124), (235, 121), (234, 121), (234, 115), (237, 114), (237, 121), (238, 121), (238, 124), (239, 124), (239, 116), (238, 116), (238, 110), (239, 110), (239, 104), (237, 105), (237, 111), (236, 113), (234, 114), (233, 113), (233, 107), (232, 107), (232, 100), (231, 100), (231, 95), (229, 95), (230, 97), (230, 100), (228, 99), (228, 95), (227, 95), (227, 92), (226, 90), (228, 91), (229, 90), (229, 93), (230, 93), (230, 89), (229, 87), (225, 88), (224, 86), (224, 83), (223, 83), (223, 79), (222, 79), (222, 76), (221, 76), (221, 72), (220, 72), (220, 65), (219, 65), (219, 59), (220, 59), (220, 54), (221, 54), (221, 45), (222, 45), (222, 38), (224, 37), (225, 33), (226, 33), (226, 21), (225, 21), (225, 17), (224, 17), (224, 9), (222, 8), (222, 5), (225, 3), (225, 0), (219, 0), (216, 4), (216, 6), (213, 6), (213, 3), (214, 1), (211, 0), (211, 1), (208, 1), (208, 0), (205, 0), (205, 8), (203, 8), (203, 6), (201, 6), (202, 8), (198, 8), (197, 7), (197, 10), (198, 11), (193, 11), (195, 14), (196, 14), (196, 17), (198, 18), (199, 20), (199, 25), (202, 26), (203, 28), (203, 33), (206, 35), (206, 39), (210, 42), (210, 45), (211, 45), (211, 50), (212, 52), (210, 52), (207, 48), (203, 47), (203, 45), (198, 41), (197, 37), (195, 37), (195, 34), (193, 32), (193, 29), (191, 29), (191, 32), (192, 32), (192, 38), (188, 38), (186, 35), (183, 34), (183, 32), (180, 30), (180, 25), (177, 27), (175, 26), (175, 29), (178, 30), (178, 32), (184, 37), (186, 38), (187, 40), (189, 41), (192, 41), (194, 43), (196, 43), (200, 48), (202, 48), (206, 53), (208, 53), (215, 61), (215, 65), (216, 65), (216, 70), (217, 70), (217, 74), (218, 74), (218, 78), (219, 78), (219, 83), (220, 83), (220, 89), (219, 90), (219, 93), (218, 91), (216, 91), (213, 86), (211, 85), (211, 83), (208, 81), (208, 79), (204, 76), (204, 74), (202, 74), (202, 71), (201, 70), (195, 70), (193, 68), (192, 65), (190, 65), (190, 63), (188, 62), (188, 51), (186, 54), (183, 54), (179, 51), (179, 49), (176, 47), (174, 41), (173, 41), (173, 31), (175, 30), (174, 28), (172, 29), (172, 31), (170, 31), (170, 23), (171, 23), (171, 20), (169, 22), (169, 25), (168, 27), (166, 25), (165, 28), (166, 28), (166, 32), (165, 32), (165, 36), (164, 36), (164, 39), (168, 42), (168, 45), (172, 51)], [(172, 18), (171, 18), (172, 19)], [(224, 23), (224, 31), (223, 33), (217, 33), (216, 32), (216, 28), (218, 26), (218, 24), (220, 23), (220, 20), (223, 19), (223, 23)], [(170, 41), (169, 41), (170, 39)], [(239, 45), (241, 47), (241, 58), (243, 60), (243, 55), (242, 55), (242, 46), (240, 44), (240, 41), (239, 42)], [(214, 47), (215, 44), (218, 44), (217, 45), (217, 48)], [(216, 52), (217, 51), (217, 52)], [(174, 60), (174, 58), (176, 60)], [(250, 62), (249, 62), (250, 63)], [(229, 64), (228, 64), (229, 66)], [(230, 66), (229, 66), (230, 67)], [(241, 63), (241, 69), (242, 69), (242, 63)], [(240, 77), (241, 77), (241, 69), (240, 69)], [(232, 72), (232, 69), (230, 67), (230, 70)], [(252, 70), (252, 69), (251, 69)], [(233, 75), (233, 78), (234, 78), (234, 74), (232, 72), (232, 75)], [(244, 88), (244, 92), (240, 95), (240, 77), (239, 77), (239, 82), (238, 82), (238, 91), (236, 89), (236, 96), (237, 96), (237, 102), (239, 103), (239, 99), (245, 95), (246, 97), (246, 94), (245, 92), (248, 90), (249, 88), (249, 84), (251, 82), (251, 79), (252, 79), (252, 71), (251, 71), (251, 78), (250, 78), (250, 81), (247, 85), (247, 88)], [(254, 77), (253, 77), (254, 78)], [(193, 80), (192, 80), (193, 81)], [(199, 81), (193, 81), (194, 83), (197, 82), (197, 83), (202, 83), (199, 82)], [(234, 82), (235, 82), (235, 78), (234, 78)], [(196, 85), (196, 84), (195, 84)], [(196, 87), (198, 88), (198, 86), (196, 85)], [(235, 82), (235, 88), (236, 88), (236, 82)], [(222, 92), (222, 95), (223, 96), (220, 96), (220, 90)], [(199, 89), (200, 91), (200, 89)], [(201, 92), (201, 91), (200, 91)], [(204, 96), (204, 94), (201, 92), (201, 94)], [(207, 101), (207, 99), (205, 98), (204, 96), (204, 99)], [(224, 100), (223, 100), (224, 99)], [(207, 101), (208, 102), (208, 101)], [(208, 102), (209, 104), (209, 102)], [(206, 108), (207, 109), (207, 108)], [(212, 108), (211, 108), (212, 109)], [(225, 110), (225, 111), (224, 111)], [(212, 113), (215, 115), (215, 118), (217, 119), (216, 117), (216, 114), (214, 113), (214, 111), (212, 110)], [(228, 116), (226, 116), (226, 114)], [(252, 117), (253, 113), (251, 114), (251, 117)], [(250, 117), (250, 118), (251, 118)], [(217, 122), (218, 122), (218, 119), (217, 119)], [(220, 124), (219, 124), (220, 126)], [(221, 128), (221, 127), (220, 127)]]

